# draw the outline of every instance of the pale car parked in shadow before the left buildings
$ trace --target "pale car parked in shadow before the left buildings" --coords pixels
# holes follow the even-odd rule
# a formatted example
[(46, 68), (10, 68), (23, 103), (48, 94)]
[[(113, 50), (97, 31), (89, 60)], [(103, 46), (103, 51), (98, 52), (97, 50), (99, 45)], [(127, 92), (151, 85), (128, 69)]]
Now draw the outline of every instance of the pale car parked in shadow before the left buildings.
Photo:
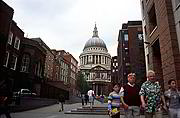
[(24, 97), (37, 96), (36, 93), (31, 92), (29, 89), (21, 89), (20, 91), (17, 92), (17, 94)]

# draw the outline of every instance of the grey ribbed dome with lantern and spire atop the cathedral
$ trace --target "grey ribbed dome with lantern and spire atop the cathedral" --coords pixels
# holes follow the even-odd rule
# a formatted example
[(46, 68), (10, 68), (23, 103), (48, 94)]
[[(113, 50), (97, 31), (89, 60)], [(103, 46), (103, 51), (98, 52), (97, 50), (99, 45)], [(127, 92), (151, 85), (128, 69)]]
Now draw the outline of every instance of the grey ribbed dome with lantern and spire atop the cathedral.
[(89, 48), (89, 47), (101, 47), (101, 48), (107, 49), (104, 41), (100, 39), (98, 36), (96, 24), (94, 27), (93, 36), (86, 42), (84, 49)]

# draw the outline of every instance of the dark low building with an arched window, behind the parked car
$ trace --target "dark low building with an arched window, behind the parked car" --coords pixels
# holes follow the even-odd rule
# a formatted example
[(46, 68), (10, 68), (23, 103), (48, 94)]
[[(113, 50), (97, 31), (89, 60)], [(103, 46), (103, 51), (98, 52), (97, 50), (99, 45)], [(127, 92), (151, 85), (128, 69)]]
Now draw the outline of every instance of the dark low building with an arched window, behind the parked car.
[(41, 84), (44, 81), (46, 50), (34, 39), (24, 38), (21, 43), (19, 61), (19, 77), (16, 88), (29, 88), (40, 95)]

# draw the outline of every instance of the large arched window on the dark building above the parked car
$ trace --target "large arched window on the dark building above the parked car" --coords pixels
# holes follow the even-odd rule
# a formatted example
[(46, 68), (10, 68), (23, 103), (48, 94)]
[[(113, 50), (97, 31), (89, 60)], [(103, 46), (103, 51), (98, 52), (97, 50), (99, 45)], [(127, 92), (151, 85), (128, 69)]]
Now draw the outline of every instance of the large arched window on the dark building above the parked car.
[[(22, 58), (21, 72), (28, 72), (29, 62), (30, 62), (29, 55), (24, 54)], [(48, 65), (48, 70), (49, 70), (49, 65)]]

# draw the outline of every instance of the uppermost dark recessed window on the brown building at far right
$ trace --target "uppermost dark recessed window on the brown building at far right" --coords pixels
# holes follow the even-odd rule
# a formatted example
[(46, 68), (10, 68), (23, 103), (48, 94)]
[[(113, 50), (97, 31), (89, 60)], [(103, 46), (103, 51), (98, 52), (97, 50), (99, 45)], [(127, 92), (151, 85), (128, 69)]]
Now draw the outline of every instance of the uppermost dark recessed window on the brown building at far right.
[(155, 10), (154, 5), (152, 6), (150, 11), (148, 12), (148, 18), (149, 18), (149, 31), (152, 32), (157, 26), (156, 10)]

